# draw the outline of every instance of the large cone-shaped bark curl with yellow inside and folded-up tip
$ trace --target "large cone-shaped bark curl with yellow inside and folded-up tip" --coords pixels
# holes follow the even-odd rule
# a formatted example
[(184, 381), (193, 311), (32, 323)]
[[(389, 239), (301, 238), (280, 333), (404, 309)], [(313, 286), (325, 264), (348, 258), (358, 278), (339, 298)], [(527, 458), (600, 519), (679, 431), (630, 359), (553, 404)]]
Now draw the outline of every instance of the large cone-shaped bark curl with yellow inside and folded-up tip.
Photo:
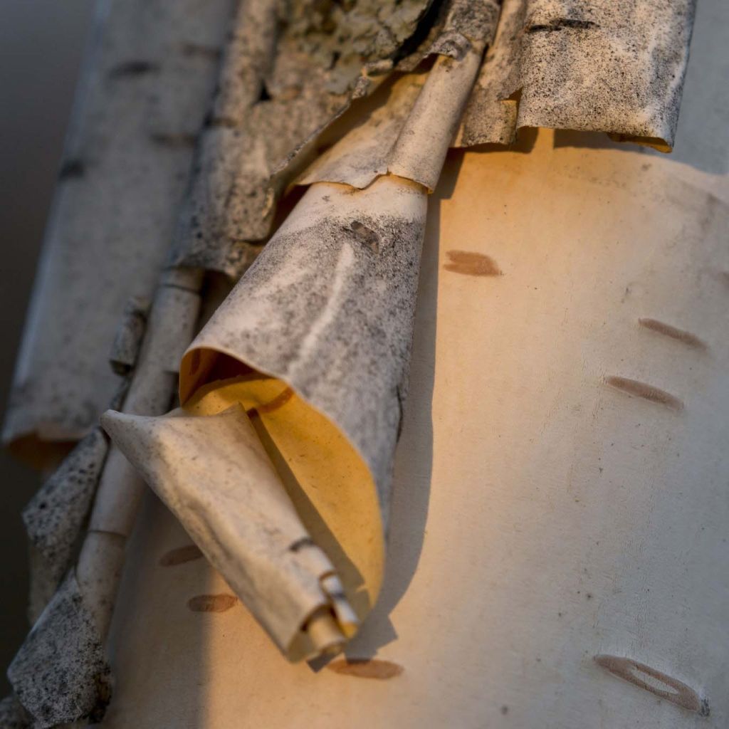
[[(292, 660), (328, 647), (313, 610), (343, 641), (381, 584), (425, 214), (405, 179), (313, 185), (185, 354), (187, 416), (104, 419)], [(257, 437), (240, 407), (191, 417), (236, 403)]]

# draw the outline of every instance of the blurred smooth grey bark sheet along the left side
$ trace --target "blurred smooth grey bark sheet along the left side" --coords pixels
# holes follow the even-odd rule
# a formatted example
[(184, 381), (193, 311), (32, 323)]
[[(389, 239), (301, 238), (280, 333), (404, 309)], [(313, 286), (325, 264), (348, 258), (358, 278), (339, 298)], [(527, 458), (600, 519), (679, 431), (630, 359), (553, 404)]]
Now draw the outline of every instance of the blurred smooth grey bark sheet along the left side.
[(98, 3), (4, 425), (30, 459), (89, 432), (119, 386), (109, 347), (168, 251), (230, 9)]

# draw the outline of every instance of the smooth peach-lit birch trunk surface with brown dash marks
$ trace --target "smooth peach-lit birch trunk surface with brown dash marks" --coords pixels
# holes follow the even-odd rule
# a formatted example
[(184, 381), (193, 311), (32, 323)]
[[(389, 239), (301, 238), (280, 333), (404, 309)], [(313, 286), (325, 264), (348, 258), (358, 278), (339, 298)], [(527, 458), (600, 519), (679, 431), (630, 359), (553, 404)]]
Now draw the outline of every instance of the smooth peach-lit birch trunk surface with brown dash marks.
[(286, 663), (149, 496), (105, 727), (727, 725), (726, 12), (699, 8), (680, 161), (549, 131), (449, 157), (347, 660)]

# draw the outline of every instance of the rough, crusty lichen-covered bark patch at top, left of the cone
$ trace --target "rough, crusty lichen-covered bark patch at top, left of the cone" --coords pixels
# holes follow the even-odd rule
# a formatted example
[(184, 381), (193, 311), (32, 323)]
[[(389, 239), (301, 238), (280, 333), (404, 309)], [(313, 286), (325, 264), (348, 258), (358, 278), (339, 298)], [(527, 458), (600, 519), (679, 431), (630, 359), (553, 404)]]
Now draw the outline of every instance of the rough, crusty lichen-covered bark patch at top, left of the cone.
[(277, 0), (241, 2), (172, 265), (241, 276), (258, 253), (252, 243), (270, 235), (297, 153), (365, 93), (366, 69), (391, 71), (428, 6), (294, 0), (281, 17)]

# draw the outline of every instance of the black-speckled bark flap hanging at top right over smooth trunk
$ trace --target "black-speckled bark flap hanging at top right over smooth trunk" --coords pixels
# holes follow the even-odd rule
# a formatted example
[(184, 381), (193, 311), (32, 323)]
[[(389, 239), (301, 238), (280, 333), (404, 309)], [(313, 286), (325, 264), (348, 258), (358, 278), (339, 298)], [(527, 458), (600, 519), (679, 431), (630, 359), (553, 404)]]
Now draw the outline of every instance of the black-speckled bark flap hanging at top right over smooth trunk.
[(458, 144), (521, 127), (674, 144), (695, 0), (504, 0)]

